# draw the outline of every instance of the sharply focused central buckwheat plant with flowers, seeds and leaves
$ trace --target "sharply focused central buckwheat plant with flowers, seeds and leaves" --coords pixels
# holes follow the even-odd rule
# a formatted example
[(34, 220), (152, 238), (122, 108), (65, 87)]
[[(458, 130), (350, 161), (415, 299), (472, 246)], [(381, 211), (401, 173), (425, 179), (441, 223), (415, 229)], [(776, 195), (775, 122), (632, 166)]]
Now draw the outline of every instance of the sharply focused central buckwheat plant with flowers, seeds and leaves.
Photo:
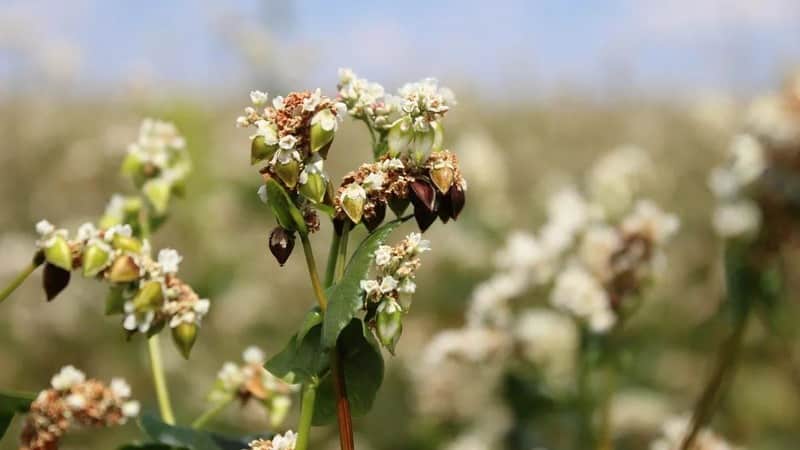
[[(237, 125), (255, 130), (250, 159), (263, 178), (258, 193), (277, 220), (269, 249), (283, 265), (299, 236), (317, 300), (286, 348), (266, 363), (303, 386), (297, 434), (251, 448), (305, 450), (311, 425), (335, 417), (341, 448), (353, 449), (351, 416), (371, 407), (383, 378), (381, 347), (397, 346), (420, 255), (429, 250), (419, 233), (393, 246), (385, 241), (412, 217), (424, 232), (464, 207), (466, 181), (443, 146), (442, 120), (455, 101), (433, 79), (390, 95), (349, 69), (339, 72), (335, 98), (317, 89), (271, 100), (253, 91), (250, 100)], [(366, 126), (370, 158), (334, 184), (325, 163), (348, 116)], [(405, 215), (409, 205), (413, 214)], [(387, 209), (397, 218), (387, 221)], [(310, 243), (320, 216), (334, 230), (322, 278)], [(350, 232), (362, 224), (369, 234), (350, 254)]]

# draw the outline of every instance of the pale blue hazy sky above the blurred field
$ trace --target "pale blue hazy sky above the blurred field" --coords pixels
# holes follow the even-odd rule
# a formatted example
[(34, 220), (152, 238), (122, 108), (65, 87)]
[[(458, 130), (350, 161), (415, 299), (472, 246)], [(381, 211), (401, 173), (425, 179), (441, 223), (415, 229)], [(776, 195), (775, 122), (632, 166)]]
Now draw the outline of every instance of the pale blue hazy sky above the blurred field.
[(390, 85), (435, 75), (487, 96), (565, 85), (749, 93), (798, 62), (796, 0), (0, 1), (0, 82), (61, 71), (86, 89), (332, 84), (350, 66)]

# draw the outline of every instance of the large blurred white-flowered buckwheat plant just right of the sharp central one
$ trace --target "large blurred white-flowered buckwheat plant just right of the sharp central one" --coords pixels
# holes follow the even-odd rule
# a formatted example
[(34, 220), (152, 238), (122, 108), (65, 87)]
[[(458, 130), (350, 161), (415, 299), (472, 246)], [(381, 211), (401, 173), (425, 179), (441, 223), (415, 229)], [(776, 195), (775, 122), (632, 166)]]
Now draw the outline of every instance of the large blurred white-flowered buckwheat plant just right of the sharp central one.
[[(611, 448), (620, 331), (664, 269), (679, 226), (640, 198), (651, 166), (644, 151), (623, 147), (597, 161), (585, 189), (556, 191), (538, 230), (509, 235), (496, 273), (472, 293), (464, 327), (424, 350), (414, 368), (421, 411), (466, 430), (448, 448), (462, 439), (474, 448)], [(514, 398), (504, 400), (504, 389)], [(545, 432), (546, 419), (521, 403), (526, 395), (577, 417), (579, 435), (516, 442), (527, 425)]]

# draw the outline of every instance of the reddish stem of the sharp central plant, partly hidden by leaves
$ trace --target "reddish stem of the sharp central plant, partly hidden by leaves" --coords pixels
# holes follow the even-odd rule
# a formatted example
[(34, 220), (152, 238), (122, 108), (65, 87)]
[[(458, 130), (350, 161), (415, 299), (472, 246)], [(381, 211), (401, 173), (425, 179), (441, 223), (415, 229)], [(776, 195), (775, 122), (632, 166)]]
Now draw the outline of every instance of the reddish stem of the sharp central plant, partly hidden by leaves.
[[(347, 228), (345, 228), (345, 230), (346, 229)], [(344, 232), (342, 234), (344, 235)], [(317, 297), (317, 303), (319, 303), (319, 307), (322, 312), (325, 313), (325, 310), (328, 307), (328, 300), (325, 297), (325, 290), (322, 288), (322, 285), (319, 282), (317, 264), (314, 260), (314, 251), (311, 248), (308, 235), (300, 234), (300, 240), (303, 243), (303, 252), (306, 255), (308, 275), (311, 278), (311, 284), (314, 287), (314, 294)], [(341, 247), (342, 245), (340, 243), (340, 250)], [(339, 253), (341, 255), (342, 252), (340, 251)], [(345, 388), (338, 349), (333, 349), (333, 351), (331, 351), (331, 372), (333, 376), (334, 391), (336, 393), (336, 413), (339, 421), (339, 443), (341, 444), (342, 450), (354, 450), (355, 447), (353, 444), (353, 425), (350, 414), (350, 402), (347, 400), (347, 391)]]

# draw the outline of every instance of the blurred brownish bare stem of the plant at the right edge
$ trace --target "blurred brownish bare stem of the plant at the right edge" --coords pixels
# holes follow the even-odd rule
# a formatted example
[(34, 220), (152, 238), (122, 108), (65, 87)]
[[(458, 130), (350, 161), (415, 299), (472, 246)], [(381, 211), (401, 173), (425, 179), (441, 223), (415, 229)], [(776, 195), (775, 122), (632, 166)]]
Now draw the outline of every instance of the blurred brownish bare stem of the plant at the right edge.
[(692, 413), (691, 426), (681, 445), (681, 450), (691, 449), (695, 438), (697, 438), (697, 434), (711, 421), (711, 417), (714, 415), (714, 409), (719, 403), (723, 385), (731, 378), (736, 368), (736, 360), (739, 356), (739, 350), (742, 347), (744, 332), (747, 329), (749, 317), (750, 313), (747, 312), (739, 318), (734, 324), (730, 336), (728, 336), (722, 344), (716, 366), (695, 405), (694, 412)]

